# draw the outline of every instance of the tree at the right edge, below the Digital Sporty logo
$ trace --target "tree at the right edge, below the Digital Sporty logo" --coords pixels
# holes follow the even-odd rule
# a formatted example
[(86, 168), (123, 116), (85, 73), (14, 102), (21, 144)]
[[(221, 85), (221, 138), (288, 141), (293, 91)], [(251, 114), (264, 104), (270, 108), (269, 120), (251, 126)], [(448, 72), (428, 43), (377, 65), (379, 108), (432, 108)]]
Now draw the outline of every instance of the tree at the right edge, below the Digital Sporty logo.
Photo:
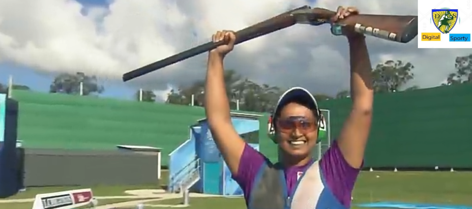
[(472, 83), (472, 54), (457, 57), (455, 63), (456, 72), (450, 73), (446, 79), (446, 86), (463, 83)]

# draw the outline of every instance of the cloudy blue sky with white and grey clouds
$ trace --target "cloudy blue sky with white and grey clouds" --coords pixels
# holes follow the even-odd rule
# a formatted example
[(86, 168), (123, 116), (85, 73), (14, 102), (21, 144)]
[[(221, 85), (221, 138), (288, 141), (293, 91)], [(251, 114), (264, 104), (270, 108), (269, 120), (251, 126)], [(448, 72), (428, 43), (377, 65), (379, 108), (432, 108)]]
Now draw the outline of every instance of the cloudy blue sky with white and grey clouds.
[[(121, 75), (205, 43), (216, 30), (239, 30), (283, 11), (311, 5), (354, 5), (363, 13), (417, 14), (415, 0), (1, 0), (0, 83), (47, 91), (54, 75), (97, 75), (106, 96), (130, 98), (139, 88), (165, 90), (201, 79), (201, 55), (128, 83)], [(428, 12), (426, 12), (428, 14)], [(421, 15), (420, 15), (421, 16)], [(463, 20), (464, 22), (464, 20)], [(294, 26), (238, 45), (226, 68), (257, 82), (335, 94), (349, 84), (347, 41), (327, 26)], [(418, 49), (368, 38), (373, 65), (404, 60), (415, 66), (409, 85), (438, 86), (470, 49)]]

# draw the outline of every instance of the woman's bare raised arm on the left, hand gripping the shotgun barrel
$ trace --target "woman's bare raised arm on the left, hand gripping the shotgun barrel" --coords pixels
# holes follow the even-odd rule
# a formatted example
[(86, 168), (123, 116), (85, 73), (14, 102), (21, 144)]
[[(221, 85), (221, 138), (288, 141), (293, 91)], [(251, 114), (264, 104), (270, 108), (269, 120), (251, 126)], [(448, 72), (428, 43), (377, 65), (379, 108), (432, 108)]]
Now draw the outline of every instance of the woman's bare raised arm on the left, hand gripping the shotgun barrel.
[(231, 173), (236, 175), (245, 142), (239, 137), (231, 122), (223, 69), (225, 55), (233, 50), (236, 37), (233, 32), (218, 31), (212, 36), (212, 39), (214, 42), (225, 40), (227, 44), (210, 51), (208, 54), (205, 111), (216, 146)]

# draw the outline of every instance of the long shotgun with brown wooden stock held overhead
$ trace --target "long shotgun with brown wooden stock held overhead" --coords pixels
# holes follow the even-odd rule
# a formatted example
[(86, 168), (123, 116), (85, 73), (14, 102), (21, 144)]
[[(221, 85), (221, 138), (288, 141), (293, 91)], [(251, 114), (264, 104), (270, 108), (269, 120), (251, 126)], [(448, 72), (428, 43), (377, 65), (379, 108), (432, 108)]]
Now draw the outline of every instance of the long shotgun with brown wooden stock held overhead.
[[(334, 35), (342, 35), (345, 31), (354, 30), (366, 35), (384, 38), (391, 41), (407, 43), (418, 33), (417, 16), (396, 15), (353, 15), (332, 23), (330, 20), (336, 12), (322, 8), (311, 8), (302, 6), (288, 12), (282, 13), (266, 21), (236, 31), (236, 43), (257, 38), (277, 30), (291, 27), (295, 24), (309, 24), (319, 26), (331, 24), (331, 32)], [(184, 52), (178, 53), (164, 60), (159, 60), (144, 67), (123, 74), (123, 81), (129, 81), (152, 71), (169, 66), (176, 62), (186, 60), (199, 54), (208, 52), (224, 44), (223, 42), (208, 42)]]

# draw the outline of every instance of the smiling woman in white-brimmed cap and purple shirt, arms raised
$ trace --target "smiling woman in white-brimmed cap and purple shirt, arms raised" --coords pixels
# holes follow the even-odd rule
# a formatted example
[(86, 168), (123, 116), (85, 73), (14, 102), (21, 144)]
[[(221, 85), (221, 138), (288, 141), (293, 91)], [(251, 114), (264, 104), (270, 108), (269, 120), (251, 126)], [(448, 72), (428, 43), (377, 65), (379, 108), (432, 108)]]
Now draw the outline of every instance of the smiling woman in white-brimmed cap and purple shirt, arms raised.
[[(354, 7), (339, 7), (333, 21), (357, 14)], [(362, 167), (371, 120), (373, 90), (371, 63), (364, 36), (345, 34), (351, 60), (353, 107), (339, 137), (315, 161), (311, 150), (319, 143), (322, 115), (315, 98), (303, 88), (292, 88), (279, 99), (271, 125), (281, 153), (272, 164), (248, 146), (231, 122), (223, 60), (236, 40), (231, 31), (218, 31), (214, 42), (225, 45), (209, 52), (205, 108), (215, 143), (241, 188), (248, 209), (348, 209), (354, 182)]]

